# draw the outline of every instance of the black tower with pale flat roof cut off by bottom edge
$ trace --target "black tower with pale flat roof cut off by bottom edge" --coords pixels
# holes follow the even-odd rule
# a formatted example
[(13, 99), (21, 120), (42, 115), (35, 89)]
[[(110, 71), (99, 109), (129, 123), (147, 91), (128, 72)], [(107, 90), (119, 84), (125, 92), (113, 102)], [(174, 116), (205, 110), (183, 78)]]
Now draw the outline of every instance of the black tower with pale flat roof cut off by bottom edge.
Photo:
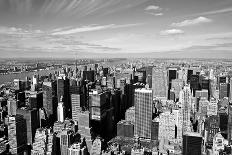
[(183, 135), (183, 155), (201, 155), (202, 136), (198, 133)]

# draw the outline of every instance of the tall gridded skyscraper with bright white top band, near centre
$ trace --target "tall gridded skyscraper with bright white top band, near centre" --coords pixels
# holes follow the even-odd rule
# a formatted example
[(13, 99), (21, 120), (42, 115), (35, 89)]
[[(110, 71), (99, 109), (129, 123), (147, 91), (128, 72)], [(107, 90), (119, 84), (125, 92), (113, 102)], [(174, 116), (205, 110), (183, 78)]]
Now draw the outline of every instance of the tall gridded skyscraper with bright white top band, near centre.
[(135, 90), (135, 135), (151, 139), (153, 96), (151, 89)]

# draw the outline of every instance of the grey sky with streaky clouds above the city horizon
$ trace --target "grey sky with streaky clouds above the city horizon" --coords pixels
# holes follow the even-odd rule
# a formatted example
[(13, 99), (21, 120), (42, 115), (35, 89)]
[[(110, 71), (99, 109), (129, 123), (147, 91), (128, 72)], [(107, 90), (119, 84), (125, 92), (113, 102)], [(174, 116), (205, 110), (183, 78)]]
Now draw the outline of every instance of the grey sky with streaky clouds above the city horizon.
[(232, 0), (0, 0), (2, 58), (170, 52), (232, 58)]

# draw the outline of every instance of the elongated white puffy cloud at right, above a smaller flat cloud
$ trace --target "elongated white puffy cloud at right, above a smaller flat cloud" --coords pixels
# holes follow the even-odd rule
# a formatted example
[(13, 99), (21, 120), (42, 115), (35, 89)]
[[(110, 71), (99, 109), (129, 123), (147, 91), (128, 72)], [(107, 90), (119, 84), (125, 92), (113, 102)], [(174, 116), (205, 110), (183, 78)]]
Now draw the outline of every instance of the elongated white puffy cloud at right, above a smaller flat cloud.
[(171, 26), (173, 27), (185, 27), (185, 26), (192, 26), (192, 25), (198, 25), (198, 24), (203, 24), (203, 23), (210, 23), (212, 22), (212, 19), (206, 18), (206, 17), (198, 17), (195, 19), (189, 19), (189, 20), (184, 20), (179, 23), (172, 23)]

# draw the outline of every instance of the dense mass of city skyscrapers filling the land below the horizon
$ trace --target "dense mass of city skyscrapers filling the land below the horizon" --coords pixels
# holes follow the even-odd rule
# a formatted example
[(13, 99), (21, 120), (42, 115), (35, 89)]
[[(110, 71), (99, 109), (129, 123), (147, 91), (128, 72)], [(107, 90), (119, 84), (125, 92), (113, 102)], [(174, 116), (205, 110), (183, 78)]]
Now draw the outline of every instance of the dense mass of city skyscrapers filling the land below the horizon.
[(1, 154), (231, 154), (231, 61), (73, 62), (1, 85)]

